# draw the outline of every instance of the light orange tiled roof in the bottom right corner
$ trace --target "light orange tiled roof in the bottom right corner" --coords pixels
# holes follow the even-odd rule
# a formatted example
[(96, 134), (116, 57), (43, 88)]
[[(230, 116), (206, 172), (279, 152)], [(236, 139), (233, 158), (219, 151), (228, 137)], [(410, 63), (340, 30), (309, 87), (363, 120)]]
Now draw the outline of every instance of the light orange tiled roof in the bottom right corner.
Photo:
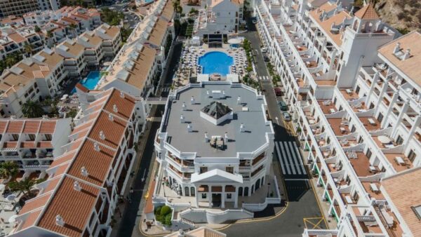
[(421, 205), (421, 186), (414, 185), (421, 180), (421, 168), (414, 168), (386, 177), (381, 181), (390, 201), (399, 211), (413, 236), (421, 236), (420, 219), (412, 207)]

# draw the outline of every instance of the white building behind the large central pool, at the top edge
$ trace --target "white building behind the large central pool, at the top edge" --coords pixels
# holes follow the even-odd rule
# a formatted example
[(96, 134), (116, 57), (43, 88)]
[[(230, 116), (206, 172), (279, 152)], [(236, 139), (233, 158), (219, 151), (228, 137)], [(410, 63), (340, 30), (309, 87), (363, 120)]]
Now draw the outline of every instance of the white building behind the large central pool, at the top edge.
[(194, 23), (194, 34), (235, 34), (243, 20), (243, 0), (208, 0)]

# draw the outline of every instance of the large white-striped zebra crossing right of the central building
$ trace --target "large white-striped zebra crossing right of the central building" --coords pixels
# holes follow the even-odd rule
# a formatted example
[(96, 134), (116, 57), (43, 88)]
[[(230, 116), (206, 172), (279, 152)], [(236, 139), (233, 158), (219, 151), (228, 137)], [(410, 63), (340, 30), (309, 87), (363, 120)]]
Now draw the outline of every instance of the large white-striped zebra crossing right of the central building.
[(297, 143), (275, 142), (275, 149), (283, 175), (307, 175)]

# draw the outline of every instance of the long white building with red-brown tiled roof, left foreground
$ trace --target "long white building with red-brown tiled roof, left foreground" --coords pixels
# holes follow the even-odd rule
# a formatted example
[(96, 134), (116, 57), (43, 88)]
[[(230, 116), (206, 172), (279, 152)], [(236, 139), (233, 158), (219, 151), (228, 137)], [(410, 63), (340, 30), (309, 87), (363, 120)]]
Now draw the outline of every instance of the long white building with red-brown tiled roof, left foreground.
[[(144, 129), (145, 105), (116, 89), (90, 95), (62, 156), (37, 184), (10, 236), (109, 236)], [(65, 137), (65, 136), (63, 136)]]

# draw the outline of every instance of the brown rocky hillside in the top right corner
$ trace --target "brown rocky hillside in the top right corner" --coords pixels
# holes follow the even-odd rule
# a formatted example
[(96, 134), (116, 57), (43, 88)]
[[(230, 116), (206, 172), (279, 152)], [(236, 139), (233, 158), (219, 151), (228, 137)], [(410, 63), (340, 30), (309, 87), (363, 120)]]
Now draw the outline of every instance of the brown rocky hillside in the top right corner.
[(373, 0), (373, 3), (380, 17), (401, 33), (421, 30), (420, 0)]

